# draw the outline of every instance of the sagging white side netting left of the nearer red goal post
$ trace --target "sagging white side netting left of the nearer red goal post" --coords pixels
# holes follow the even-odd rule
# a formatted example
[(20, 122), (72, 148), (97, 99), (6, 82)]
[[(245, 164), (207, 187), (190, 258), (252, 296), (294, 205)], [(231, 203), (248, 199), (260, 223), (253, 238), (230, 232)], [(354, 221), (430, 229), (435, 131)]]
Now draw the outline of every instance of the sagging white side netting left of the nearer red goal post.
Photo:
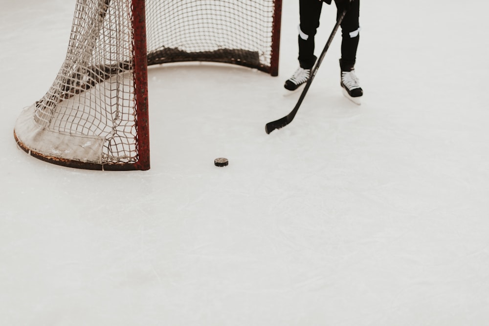
[(35, 122), (62, 134), (100, 136), (103, 163), (136, 159), (131, 3), (79, 0), (67, 57)]

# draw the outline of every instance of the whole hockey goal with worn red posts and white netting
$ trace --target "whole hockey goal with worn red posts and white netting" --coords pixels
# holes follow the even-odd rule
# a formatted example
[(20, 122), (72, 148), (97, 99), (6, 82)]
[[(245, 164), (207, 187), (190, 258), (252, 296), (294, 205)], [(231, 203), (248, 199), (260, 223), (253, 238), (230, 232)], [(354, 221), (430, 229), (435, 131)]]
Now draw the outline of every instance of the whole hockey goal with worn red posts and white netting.
[(147, 66), (214, 61), (276, 76), (280, 11), (281, 0), (77, 0), (66, 60), (14, 137), (50, 163), (149, 169)]

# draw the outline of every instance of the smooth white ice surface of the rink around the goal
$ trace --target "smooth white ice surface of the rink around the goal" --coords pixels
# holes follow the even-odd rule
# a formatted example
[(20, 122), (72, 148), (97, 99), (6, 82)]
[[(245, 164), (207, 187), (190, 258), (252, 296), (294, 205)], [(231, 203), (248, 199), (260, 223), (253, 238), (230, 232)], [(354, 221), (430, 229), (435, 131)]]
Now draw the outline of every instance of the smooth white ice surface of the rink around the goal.
[(1, 326), (489, 325), (486, 1), (363, 0), (363, 104), (341, 95), (337, 35), (295, 120), (267, 135), (299, 97), (283, 96), (284, 0), (279, 77), (150, 68), (146, 172), (17, 148), (75, 1), (0, 2)]

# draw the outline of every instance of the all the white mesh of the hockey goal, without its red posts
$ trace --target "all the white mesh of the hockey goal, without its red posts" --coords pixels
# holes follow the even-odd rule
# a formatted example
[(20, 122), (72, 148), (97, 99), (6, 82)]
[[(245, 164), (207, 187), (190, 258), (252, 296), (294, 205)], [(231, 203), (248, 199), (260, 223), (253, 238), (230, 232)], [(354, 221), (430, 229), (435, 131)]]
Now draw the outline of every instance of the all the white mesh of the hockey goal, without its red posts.
[[(274, 0), (146, 0), (147, 63), (216, 61), (269, 72), (274, 5)], [(77, 0), (66, 60), (33, 110), (34, 122), (44, 130), (102, 139), (102, 153), (93, 163), (138, 160), (134, 12), (131, 0)], [(44, 154), (71, 159), (56, 151)]]

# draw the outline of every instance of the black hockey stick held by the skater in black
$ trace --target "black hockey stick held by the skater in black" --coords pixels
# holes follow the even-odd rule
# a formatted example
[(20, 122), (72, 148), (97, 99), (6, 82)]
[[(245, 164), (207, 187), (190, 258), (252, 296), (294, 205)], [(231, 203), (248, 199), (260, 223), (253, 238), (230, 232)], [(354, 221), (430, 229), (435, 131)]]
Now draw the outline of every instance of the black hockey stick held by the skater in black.
[(336, 24), (334, 25), (333, 31), (331, 32), (331, 35), (330, 35), (330, 38), (326, 42), (326, 45), (324, 46), (323, 52), (321, 52), (321, 55), (319, 56), (319, 58), (316, 61), (316, 64), (312, 68), (311, 77), (309, 77), (308, 81), (306, 82), (306, 86), (302, 90), (301, 96), (299, 97), (299, 101), (297, 101), (297, 104), (295, 104), (294, 108), (292, 109), (292, 111), (290, 111), (290, 113), (287, 116), (285, 116), (279, 120), (268, 122), (265, 125), (265, 131), (267, 132), (267, 134), (269, 134), (270, 132), (272, 132), (275, 129), (280, 129), (282, 127), (285, 127), (290, 122), (292, 122), (292, 120), (294, 119), (295, 114), (299, 110), (299, 106), (301, 106), (302, 101), (306, 97), (306, 93), (309, 90), (309, 87), (311, 86), (312, 80), (316, 76), (317, 69), (319, 68), (319, 65), (321, 64), (321, 61), (323, 61), (323, 58), (326, 55), (326, 51), (328, 51), (328, 49), (331, 45), (331, 42), (333, 41), (334, 35), (336, 34), (336, 31), (338, 30), (339, 25), (343, 21), (343, 18), (345, 17), (347, 11), (348, 11), (348, 9), (343, 10), (341, 15), (336, 20)]

